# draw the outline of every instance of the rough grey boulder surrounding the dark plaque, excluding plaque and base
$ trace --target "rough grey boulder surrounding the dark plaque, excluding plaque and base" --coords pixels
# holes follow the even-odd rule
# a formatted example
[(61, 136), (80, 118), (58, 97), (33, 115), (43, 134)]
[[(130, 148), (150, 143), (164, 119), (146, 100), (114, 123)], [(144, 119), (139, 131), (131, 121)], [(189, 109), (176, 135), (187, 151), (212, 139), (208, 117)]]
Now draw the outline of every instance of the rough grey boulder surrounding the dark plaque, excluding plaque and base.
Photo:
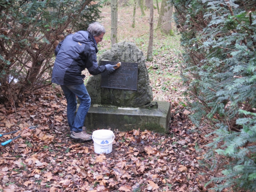
[(111, 50), (99, 57), (100, 61), (121, 61), (138, 63), (137, 91), (112, 88), (101, 88), (101, 75), (91, 76), (86, 88), (91, 97), (91, 104), (113, 105), (117, 107), (140, 107), (152, 101), (152, 87), (149, 85), (148, 70), (143, 52), (133, 43), (121, 42), (114, 44)]

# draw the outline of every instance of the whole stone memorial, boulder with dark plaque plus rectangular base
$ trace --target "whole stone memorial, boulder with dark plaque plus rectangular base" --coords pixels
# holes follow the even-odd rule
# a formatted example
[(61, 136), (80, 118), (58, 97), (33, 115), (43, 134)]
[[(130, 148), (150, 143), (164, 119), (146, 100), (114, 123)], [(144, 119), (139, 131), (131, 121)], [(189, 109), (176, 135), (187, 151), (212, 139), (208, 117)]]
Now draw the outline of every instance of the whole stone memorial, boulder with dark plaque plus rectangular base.
[(86, 84), (91, 97), (87, 129), (120, 131), (169, 131), (170, 103), (152, 101), (143, 52), (133, 43), (121, 42), (99, 57), (99, 65), (121, 62), (113, 73), (91, 76)]

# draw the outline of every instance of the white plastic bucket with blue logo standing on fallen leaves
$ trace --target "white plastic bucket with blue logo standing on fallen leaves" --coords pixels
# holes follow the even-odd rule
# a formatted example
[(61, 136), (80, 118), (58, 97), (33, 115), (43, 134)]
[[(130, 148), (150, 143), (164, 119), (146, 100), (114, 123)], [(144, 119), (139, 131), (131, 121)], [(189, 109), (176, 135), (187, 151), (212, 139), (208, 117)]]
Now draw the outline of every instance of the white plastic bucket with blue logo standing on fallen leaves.
[(107, 129), (100, 129), (93, 131), (93, 145), (94, 152), (97, 154), (102, 153), (111, 153), (112, 152), (112, 143), (115, 139), (113, 131)]

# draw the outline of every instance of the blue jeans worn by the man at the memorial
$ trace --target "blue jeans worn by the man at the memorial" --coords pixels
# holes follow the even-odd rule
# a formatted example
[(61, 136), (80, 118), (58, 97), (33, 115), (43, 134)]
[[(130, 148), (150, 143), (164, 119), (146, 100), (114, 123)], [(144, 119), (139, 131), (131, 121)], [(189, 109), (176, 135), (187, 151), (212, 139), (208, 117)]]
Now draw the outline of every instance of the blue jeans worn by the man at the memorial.
[[(84, 126), (84, 120), (90, 108), (90, 96), (84, 84), (61, 85), (61, 89), (63, 90), (67, 99), (67, 122), (70, 127), (70, 131), (79, 133), (83, 131), (82, 127)], [(77, 112), (76, 96), (81, 102)]]

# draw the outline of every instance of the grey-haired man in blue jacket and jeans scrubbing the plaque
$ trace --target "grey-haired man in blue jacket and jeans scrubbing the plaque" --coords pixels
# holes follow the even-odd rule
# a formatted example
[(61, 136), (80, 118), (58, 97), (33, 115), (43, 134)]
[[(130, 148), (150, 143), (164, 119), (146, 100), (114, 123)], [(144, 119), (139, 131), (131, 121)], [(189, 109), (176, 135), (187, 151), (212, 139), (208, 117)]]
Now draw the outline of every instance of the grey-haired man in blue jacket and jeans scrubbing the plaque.
[[(91, 23), (87, 31), (67, 35), (55, 49), (55, 63), (52, 83), (60, 84), (67, 100), (67, 122), (73, 139), (91, 140), (92, 136), (83, 131), (84, 120), (90, 108), (90, 96), (84, 85), (81, 71), (87, 68), (91, 75), (113, 72), (113, 65), (98, 66), (97, 44), (102, 41), (106, 30), (98, 22)], [(76, 96), (80, 105), (76, 112)]]

